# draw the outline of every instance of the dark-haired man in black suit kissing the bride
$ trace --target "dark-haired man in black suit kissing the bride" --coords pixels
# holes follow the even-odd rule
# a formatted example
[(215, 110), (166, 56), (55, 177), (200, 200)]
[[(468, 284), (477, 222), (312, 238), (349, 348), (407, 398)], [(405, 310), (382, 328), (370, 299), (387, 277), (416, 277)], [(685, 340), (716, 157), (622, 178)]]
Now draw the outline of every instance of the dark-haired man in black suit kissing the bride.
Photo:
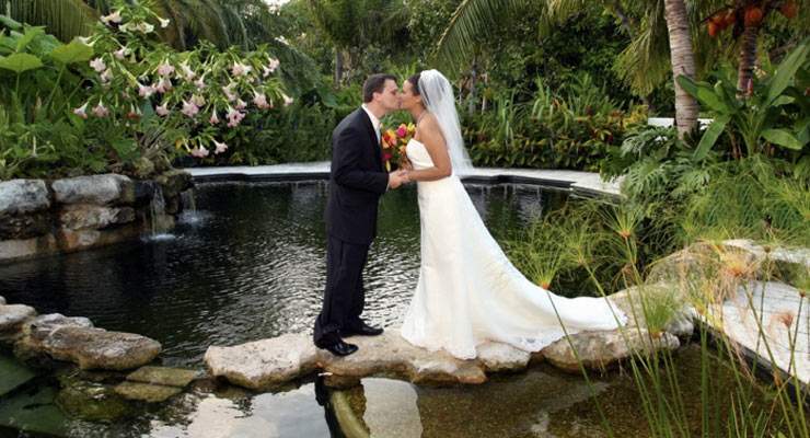
[(357, 351), (344, 337), (382, 334), (382, 328), (360, 319), (366, 302), (362, 269), (377, 234), (380, 196), (405, 182), (404, 174), (383, 170), (380, 153), (380, 119), (400, 106), (396, 78), (372, 74), (363, 83), (362, 94), (362, 106), (332, 132), (326, 290), (315, 320), (314, 342), (337, 356)]

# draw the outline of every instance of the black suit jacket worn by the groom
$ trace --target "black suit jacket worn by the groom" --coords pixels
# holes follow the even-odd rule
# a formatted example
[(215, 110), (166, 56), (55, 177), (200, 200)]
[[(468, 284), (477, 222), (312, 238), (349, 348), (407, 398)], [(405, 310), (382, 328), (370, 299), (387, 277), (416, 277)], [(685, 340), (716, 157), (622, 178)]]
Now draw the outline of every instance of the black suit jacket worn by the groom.
[(360, 107), (332, 132), (332, 172), (326, 232), (348, 243), (368, 245), (377, 235), (377, 209), (389, 174), (369, 115)]

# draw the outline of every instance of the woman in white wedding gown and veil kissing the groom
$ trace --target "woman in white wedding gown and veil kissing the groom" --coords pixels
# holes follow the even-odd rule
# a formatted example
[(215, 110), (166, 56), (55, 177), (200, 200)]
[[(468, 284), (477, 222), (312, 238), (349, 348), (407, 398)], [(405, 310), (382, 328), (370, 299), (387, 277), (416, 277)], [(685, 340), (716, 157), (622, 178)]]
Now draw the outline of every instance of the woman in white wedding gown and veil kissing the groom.
[(605, 298), (558, 297), (528, 280), (493, 239), (459, 180), (472, 170), (453, 90), (437, 70), (403, 84), (402, 108), (416, 120), (407, 145), (421, 222), (421, 266), (402, 336), (460, 359), (493, 341), (537, 351), (566, 331), (613, 330), (626, 316)]

